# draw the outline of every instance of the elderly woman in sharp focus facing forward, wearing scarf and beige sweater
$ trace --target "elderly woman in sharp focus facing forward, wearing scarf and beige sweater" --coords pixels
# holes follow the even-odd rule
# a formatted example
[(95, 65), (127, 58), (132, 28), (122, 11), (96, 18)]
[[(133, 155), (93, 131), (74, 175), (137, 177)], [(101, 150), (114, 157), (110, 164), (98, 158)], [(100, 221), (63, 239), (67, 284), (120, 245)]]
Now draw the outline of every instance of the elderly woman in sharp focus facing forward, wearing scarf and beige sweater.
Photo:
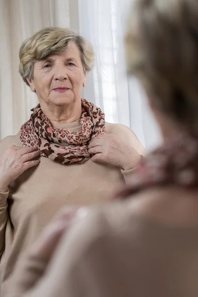
[(45, 28), (20, 48), (19, 72), (40, 104), (0, 143), (1, 289), (21, 253), (67, 205), (106, 201), (145, 153), (130, 129), (105, 122), (81, 99), (92, 46), (71, 30)]

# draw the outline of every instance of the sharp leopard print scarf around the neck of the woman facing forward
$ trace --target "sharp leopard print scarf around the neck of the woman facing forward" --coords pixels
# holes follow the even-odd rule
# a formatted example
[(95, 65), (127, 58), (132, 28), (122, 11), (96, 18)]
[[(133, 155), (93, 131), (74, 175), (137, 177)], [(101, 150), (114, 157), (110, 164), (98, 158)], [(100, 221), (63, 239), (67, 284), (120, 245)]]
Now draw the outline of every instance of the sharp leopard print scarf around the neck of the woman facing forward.
[(90, 158), (87, 146), (95, 137), (105, 133), (105, 120), (95, 104), (86, 99), (81, 102), (81, 132), (54, 128), (39, 104), (21, 127), (22, 145), (40, 148), (42, 156), (64, 165), (87, 161)]

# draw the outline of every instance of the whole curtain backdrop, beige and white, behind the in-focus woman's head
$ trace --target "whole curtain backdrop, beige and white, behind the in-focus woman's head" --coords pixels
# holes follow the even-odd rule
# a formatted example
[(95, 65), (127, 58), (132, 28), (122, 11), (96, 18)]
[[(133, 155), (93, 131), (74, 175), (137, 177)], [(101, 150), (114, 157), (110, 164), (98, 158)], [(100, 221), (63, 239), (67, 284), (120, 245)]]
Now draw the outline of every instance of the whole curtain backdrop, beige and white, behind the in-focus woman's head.
[(71, 27), (96, 53), (84, 98), (96, 103), (106, 121), (130, 127), (149, 151), (161, 142), (138, 82), (128, 77), (124, 51), (132, 0), (0, 0), (0, 139), (18, 133), (38, 103), (18, 73), (22, 42), (38, 30)]

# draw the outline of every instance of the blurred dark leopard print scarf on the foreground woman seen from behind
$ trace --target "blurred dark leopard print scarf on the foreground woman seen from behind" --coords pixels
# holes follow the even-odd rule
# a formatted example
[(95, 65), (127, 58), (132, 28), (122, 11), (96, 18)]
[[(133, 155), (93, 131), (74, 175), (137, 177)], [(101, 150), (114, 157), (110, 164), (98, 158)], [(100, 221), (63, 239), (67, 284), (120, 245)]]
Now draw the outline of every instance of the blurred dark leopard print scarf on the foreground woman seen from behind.
[(116, 198), (166, 185), (198, 187), (198, 135), (177, 133), (149, 153), (134, 171), (130, 185), (123, 187)]

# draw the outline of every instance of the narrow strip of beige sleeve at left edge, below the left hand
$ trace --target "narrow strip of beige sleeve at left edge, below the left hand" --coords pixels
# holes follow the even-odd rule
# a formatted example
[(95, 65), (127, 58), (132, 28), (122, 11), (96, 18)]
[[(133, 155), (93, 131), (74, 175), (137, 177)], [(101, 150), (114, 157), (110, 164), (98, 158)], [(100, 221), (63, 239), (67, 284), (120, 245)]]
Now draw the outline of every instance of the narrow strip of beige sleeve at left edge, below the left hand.
[(7, 198), (9, 191), (2, 192), (0, 190), (0, 256), (5, 245), (5, 227), (7, 222)]

